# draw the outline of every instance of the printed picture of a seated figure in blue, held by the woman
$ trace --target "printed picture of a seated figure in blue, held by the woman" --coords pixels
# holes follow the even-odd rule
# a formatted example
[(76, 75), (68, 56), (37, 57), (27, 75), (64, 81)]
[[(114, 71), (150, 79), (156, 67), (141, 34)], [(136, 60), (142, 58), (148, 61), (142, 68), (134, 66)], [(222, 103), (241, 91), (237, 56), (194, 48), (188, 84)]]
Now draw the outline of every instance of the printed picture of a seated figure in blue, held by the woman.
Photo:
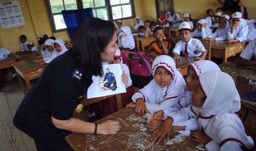
[(112, 94), (126, 92), (126, 86), (123, 84), (120, 64), (103, 65), (104, 74), (92, 76), (92, 84), (88, 88), (87, 98), (101, 97)]

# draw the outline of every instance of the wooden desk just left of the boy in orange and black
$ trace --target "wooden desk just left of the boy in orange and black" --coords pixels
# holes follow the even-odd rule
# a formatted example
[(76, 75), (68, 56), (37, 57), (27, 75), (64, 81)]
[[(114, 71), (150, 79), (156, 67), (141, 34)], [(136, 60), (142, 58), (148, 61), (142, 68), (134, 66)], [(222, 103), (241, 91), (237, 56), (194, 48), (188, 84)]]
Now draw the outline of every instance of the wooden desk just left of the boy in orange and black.
[(138, 51), (145, 52), (145, 47), (148, 46), (151, 42), (156, 40), (154, 37), (144, 37), (144, 36), (134, 36), (134, 40), (136, 44), (139, 44), (139, 47), (137, 46)]

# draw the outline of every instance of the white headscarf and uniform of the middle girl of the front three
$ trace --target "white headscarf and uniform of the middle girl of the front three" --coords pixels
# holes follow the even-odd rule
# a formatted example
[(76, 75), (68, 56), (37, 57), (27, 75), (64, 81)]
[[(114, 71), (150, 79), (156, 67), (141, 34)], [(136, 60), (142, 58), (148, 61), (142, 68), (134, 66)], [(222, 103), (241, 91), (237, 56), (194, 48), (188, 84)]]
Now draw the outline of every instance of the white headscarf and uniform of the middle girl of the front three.
[[(208, 71), (221, 71), (220, 67), (216, 65), (216, 63), (210, 60), (199, 60), (199, 61), (190, 63), (188, 67), (188, 73), (190, 69), (193, 69), (198, 76)], [(186, 126), (186, 130), (178, 131), (183, 135), (189, 135), (190, 130), (197, 130), (200, 128), (200, 126), (198, 126), (199, 124), (197, 119), (195, 119), (197, 117), (197, 114), (188, 113), (189, 111), (191, 111), (191, 108), (192, 108), (191, 96), (192, 96), (192, 92), (185, 90), (181, 100), (179, 100), (178, 103), (176, 104), (176, 107), (178, 108), (179, 111), (175, 113), (170, 112), (170, 114), (165, 114), (165, 117), (168, 116), (175, 119), (173, 121), (173, 125)]]

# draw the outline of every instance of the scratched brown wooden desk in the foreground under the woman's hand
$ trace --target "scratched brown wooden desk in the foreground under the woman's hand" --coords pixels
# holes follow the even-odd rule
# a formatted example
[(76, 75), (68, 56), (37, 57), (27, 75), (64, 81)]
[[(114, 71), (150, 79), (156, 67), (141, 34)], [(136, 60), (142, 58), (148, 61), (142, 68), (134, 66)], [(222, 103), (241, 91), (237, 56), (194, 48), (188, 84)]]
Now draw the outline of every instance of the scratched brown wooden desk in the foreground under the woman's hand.
[(169, 142), (164, 138), (159, 145), (151, 143), (151, 132), (147, 131), (146, 118), (134, 112), (134, 108), (124, 108), (97, 121), (118, 120), (121, 131), (115, 135), (71, 133), (66, 141), (74, 150), (199, 150), (202, 144), (192, 142), (189, 137), (173, 132)]

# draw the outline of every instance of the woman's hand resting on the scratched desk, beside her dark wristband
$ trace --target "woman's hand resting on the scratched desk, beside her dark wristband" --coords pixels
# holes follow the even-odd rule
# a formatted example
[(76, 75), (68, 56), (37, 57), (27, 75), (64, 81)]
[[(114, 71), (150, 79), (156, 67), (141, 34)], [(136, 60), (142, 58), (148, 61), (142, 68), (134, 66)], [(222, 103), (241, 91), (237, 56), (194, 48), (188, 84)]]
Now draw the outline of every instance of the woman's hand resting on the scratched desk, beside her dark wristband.
[(98, 124), (97, 133), (115, 134), (121, 130), (119, 121), (107, 120), (104, 123)]

